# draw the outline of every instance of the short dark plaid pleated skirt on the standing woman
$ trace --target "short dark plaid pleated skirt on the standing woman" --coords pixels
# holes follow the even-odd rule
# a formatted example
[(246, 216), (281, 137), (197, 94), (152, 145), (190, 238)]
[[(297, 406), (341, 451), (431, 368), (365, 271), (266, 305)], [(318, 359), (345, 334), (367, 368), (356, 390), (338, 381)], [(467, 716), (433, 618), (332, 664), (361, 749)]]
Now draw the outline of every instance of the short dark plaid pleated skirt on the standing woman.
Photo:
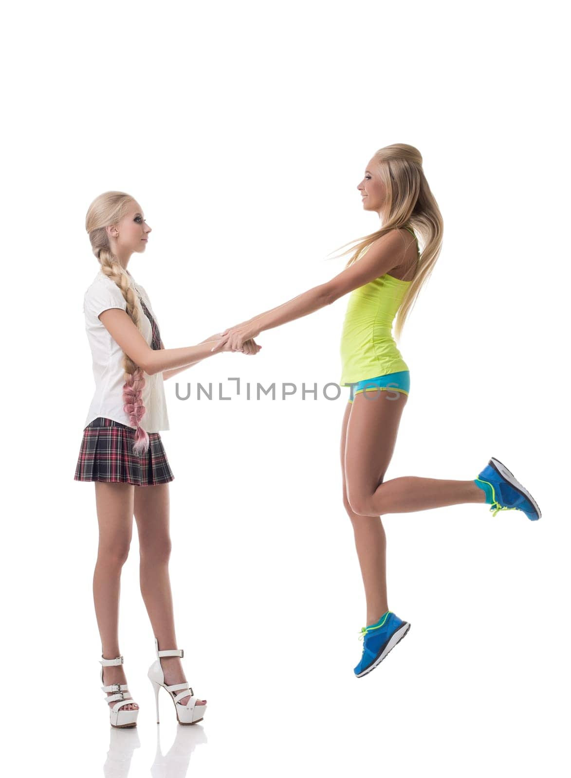
[(100, 416), (83, 430), (75, 481), (112, 481), (153, 486), (174, 479), (159, 433), (147, 433), (149, 448), (133, 454), (136, 430)]

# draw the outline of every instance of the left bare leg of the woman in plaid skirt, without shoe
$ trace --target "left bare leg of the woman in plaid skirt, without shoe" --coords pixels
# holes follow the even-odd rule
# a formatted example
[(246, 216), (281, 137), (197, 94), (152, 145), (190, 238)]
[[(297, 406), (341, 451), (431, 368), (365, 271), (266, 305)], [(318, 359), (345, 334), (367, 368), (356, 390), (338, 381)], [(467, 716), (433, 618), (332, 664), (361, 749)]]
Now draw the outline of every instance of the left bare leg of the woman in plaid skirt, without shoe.
[[(105, 659), (115, 659), (121, 654), (118, 640), (119, 591), (122, 567), (131, 545), (133, 486), (96, 481), (95, 502), (99, 548), (93, 573), (93, 602), (101, 636), (101, 654)], [(103, 668), (103, 679), (104, 686), (127, 683), (123, 665)], [(108, 696), (112, 693), (108, 692)], [(138, 707), (136, 703), (129, 703), (121, 710), (136, 710)]]

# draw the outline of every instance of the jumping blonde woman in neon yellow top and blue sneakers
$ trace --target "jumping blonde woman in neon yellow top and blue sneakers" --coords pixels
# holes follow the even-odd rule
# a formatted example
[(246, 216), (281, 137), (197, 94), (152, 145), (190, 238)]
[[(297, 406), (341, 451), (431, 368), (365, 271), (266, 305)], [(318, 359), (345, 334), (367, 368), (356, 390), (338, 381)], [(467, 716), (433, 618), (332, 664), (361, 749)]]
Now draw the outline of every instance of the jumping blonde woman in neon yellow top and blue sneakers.
[[(491, 503), (520, 510), (534, 520), (538, 504), (513, 474), (492, 457), (466, 481), (404, 476), (384, 481), (407, 404), (407, 363), (392, 335), (400, 336), (407, 313), (434, 268), (442, 247), (442, 216), (422, 169), (418, 149), (404, 143), (375, 152), (358, 184), (362, 207), (381, 220), (379, 230), (355, 241), (343, 272), (287, 303), (221, 334), (214, 348), (240, 349), (248, 338), (312, 314), (349, 294), (341, 338), (340, 384), (350, 387), (341, 429), (345, 510), (351, 519), (363, 583), (366, 627), (354, 668), (360, 678), (386, 657), (410, 629), (389, 611), (383, 513), (411, 513), (461, 503)], [(422, 253), (418, 244), (420, 236)]]

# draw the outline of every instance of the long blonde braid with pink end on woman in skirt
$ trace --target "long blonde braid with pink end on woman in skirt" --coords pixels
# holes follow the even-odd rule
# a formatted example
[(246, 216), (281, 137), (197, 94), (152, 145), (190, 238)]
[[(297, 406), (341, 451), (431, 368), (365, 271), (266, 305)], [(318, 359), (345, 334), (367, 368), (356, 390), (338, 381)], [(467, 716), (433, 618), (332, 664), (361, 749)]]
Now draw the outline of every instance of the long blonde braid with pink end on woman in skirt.
[[(139, 303), (139, 296), (132, 287), (129, 274), (115, 257), (115, 254), (111, 252), (108, 233), (105, 229), (111, 224), (118, 224), (132, 202), (136, 202), (135, 198), (125, 192), (104, 192), (103, 195), (95, 198), (87, 209), (85, 229), (90, 237), (93, 254), (101, 265), (101, 272), (121, 289), (125, 303), (127, 303), (127, 314), (131, 317), (136, 328), (141, 331), (141, 317), (145, 314)], [(125, 352), (123, 352), (122, 366), (125, 370), (125, 384), (123, 386), (125, 405), (123, 405), (123, 410), (129, 415), (129, 421), (136, 426), (135, 443), (132, 450), (134, 454), (140, 455), (149, 448), (149, 436), (146, 430), (139, 425), (146, 411), (143, 405), (145, 377), (143, 370)]]

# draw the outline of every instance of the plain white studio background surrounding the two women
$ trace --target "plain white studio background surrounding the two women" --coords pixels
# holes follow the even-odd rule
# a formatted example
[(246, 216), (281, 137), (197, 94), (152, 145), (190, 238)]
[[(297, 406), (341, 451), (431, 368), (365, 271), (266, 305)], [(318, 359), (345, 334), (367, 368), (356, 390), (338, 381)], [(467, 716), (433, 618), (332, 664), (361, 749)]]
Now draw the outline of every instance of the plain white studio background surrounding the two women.
[[(5, 19), (12, 774), (101, 776), (108, 759), (106, 774), (125, 776), (133, 748), (134, 778), (568, 774), (558, 9), (139, 0), (32, 2)], [(492, 518), (473, 504), (383, 517), (389, 608), (412, 626), (355, 679), (365, 601), (341, 502), (345, 399), (175, 397), (177, 381), (193, 391), (229, 376), (338, 381), (347, 300), (263, 333), (259, 356), (223, 354), (179, 374), (165, 384), (162, 435), (175, 475), (171, 583), (186, 675), (209, 708), (203, 724), (178, 727), (161, 692), (154, 722), (134, 531), (119, 636), (139, 726), (111, 731), (108, 753), (94, 487), (73, 480), (93, 393), (86, 209), (108, 189), (143, 205), (153, 233), (129, 270), (167, 348), (193, 345), (340, 272), (344, 260), (328, 254), (378, 225), (356, 186), (394, 142), (420, 149), (445, 238), (399, 344), (411, 396), (386, 478), (471, 479), (493, 455), (543, 517)]]

